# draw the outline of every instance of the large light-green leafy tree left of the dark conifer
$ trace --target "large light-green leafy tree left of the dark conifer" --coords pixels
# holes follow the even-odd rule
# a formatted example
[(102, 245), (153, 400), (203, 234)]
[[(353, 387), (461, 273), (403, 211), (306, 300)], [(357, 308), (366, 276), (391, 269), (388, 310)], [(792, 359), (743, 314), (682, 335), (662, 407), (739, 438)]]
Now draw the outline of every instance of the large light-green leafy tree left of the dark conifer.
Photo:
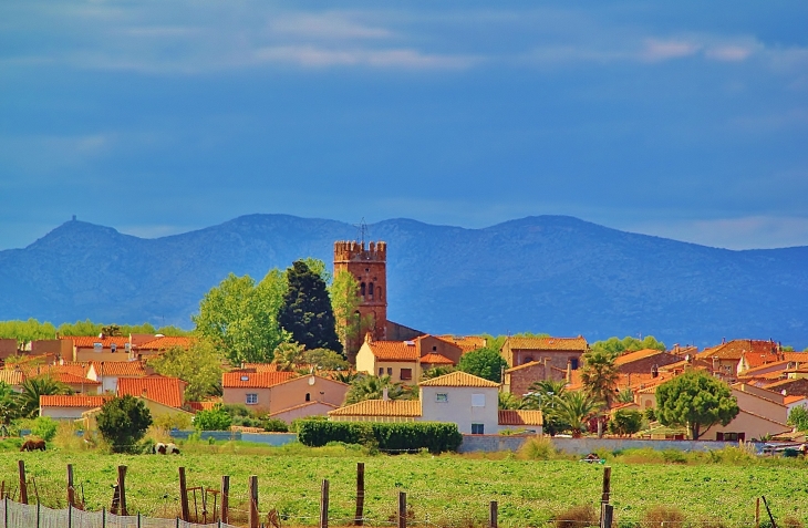
[(230, 273), (208, 291), (191, 319), (199, 337), (214, 344), (231, 364), (272, 361), (272, 351), (289, 340), (278, 324), (286, 280), (277, 269), (255, 283)]

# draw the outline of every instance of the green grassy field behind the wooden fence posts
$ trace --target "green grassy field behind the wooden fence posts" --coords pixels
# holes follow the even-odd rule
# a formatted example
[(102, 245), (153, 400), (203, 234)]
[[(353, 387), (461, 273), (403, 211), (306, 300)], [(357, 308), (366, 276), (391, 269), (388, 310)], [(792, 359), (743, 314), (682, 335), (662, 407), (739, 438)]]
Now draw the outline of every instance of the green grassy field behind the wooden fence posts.
[[(654, 459), (648, 454), (633, 456), (610, 460), (619, 525), (630, 526), (649, 507), (666, 505), (682, 509), (694, 526), (709, 519), (749, 526), (760, 495), (766, 495), (776, 517), (808, 520), (808, 465), (802, 460), (664, 464), (648, 463)], [(514, 454), (371, 456), (343, 446), (228, 444), (199, 445), (175, 457), (6, 452), (0, 453), (0, 479), (7, 488), (17, 488), (18, 459), (25, 462), (41, 501), (51, 507), (65, 505), (65, 467), (72, 463), (76, 485), (81, 484), (86, 507), (93, 510), (110, 506), (116, 467), (126, 465), (130, 509), (155, 517), (178, 511), (179, 466), (186, 467), (188, 486), (218, 489), (221, 475), (230, 475), (231, 504), (237, 509), (245, 509), (248, 476), (258, 475), (260, 510), (276, 508), (288, 525), (317, 524), (323, 478), (331, 486), (331, 524), (350, 524), (358, 462), (365, 463), (365, 513), (374, 526), (392, 520), (400, 490), (407, 493), (416, 524), (483, 526), (488, 501), (498, 500), (503, 526), (545, 526), (569, 506), (595, 505), (603, 472), (600, 465), (525, 460)], [(34, 497), (32, 488), (29, 497)]]

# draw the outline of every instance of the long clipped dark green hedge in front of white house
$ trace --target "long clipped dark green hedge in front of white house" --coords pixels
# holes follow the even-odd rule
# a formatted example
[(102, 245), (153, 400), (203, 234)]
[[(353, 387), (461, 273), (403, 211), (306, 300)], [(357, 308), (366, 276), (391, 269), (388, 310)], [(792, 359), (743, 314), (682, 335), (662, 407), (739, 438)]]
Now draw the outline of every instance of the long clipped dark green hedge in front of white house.
[(407, 452), (429, 449), (429, 453), (457, 451), (463, 435), (457, 424), (441, 422), (325, 422), (301, 420), (298, 423), (298, 439), (311, 447), (324, 446), (329, 442), (362, 444), (379, 447), (380, 451)]

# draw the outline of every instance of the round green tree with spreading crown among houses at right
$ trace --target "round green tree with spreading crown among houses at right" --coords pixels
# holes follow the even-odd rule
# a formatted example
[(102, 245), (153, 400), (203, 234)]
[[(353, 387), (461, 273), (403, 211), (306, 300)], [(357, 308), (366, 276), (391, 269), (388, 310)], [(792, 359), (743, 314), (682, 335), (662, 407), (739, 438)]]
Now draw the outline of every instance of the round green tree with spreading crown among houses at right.
[(704, 371), (688, 371), (656, 387), (656, 418), (687, 427), (698, 439), (715, 424), (727, 425), (740, 410), (729, 385)]

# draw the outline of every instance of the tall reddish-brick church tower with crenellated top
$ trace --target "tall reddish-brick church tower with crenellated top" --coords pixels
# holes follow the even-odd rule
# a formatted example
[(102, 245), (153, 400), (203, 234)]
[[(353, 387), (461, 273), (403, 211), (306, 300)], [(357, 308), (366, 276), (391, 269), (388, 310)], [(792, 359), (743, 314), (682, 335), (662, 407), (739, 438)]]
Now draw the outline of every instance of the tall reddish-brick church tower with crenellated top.
[[(334, 242), (334, 276), (342, 270), (353, 275), (359, 282), (362, 302), (359, 313), (374, 340), (386, 339), (387, 328), (387, 244), (338, 241)], [(364, 325), (364, 324), (363, 324)], [(359, 343), (364, 335), (359, 337)], [(351, 346), (353, 348), (353, 346)]]

